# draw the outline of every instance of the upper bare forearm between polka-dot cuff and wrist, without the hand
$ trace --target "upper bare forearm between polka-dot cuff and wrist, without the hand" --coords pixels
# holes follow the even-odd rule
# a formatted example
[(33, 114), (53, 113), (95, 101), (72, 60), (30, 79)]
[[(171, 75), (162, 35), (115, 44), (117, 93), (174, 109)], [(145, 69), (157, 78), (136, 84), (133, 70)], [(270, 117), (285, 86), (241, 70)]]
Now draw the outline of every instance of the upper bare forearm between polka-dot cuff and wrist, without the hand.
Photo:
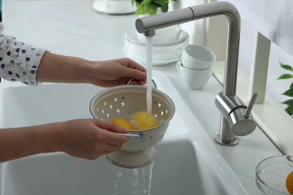
[[(46, 52), (36, 74), (38, 82), (92, 83), (91, 61)], [(94, 79), (94, 78), (92, 78)]]

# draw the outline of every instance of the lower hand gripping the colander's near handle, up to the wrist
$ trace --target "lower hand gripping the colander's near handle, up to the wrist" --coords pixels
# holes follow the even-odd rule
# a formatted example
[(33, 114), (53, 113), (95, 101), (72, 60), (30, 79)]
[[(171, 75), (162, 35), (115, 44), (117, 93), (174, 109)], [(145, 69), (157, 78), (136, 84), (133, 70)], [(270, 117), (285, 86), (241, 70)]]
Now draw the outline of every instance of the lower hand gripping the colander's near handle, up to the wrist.
[(126, 128), (99, 119), (76, 119), (57, 124), (59, 151), (70, 156), (96, 159), (122, 148), (128, 137)]

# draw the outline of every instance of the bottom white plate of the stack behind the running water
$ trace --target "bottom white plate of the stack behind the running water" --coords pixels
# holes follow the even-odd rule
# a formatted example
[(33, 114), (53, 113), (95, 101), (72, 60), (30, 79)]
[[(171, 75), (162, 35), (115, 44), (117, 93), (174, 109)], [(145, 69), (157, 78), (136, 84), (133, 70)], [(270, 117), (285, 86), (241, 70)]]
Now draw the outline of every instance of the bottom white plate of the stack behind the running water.
[[(133, 52), (130, 52), (127, 47), (123, 47), (122, 48), (122, 53), (124, 56), (126, 56), (126, 58), (130, 58), (138, 63), (140, 63), (143, 66), (146, 66), (146, 59), (143, 59), (139, 56), (136, 56)], [(162, 60), (162, 61), (153, 61), (153, 66), (163, 66), (163, 65), (167, 65), (167, 64), (171, 64), (175, 61), (178, 61), (177, 58), (175, 59), (170, 59), (170, 60)]]

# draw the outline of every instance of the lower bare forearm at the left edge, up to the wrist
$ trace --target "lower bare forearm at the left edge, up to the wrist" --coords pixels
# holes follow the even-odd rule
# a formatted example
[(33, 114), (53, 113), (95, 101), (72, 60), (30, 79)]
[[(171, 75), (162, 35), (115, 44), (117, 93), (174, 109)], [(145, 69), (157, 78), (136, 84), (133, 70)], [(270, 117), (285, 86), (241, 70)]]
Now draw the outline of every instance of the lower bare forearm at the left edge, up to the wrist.
[(0, 129), (0, 162), (58, 152), (57, 124)]

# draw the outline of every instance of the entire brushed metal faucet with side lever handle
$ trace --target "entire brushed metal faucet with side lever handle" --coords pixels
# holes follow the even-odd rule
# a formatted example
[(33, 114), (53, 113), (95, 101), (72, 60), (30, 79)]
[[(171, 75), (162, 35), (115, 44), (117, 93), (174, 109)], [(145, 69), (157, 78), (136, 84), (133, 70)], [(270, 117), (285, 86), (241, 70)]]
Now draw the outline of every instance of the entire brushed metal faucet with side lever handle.
[(156, 29), (218, 15), (226, 16), (229, 27), (224, 90), (215, 99), (215, 104), (221, 112), (220, 134), (215, 137), (215, 140), (219, 144), (232, 146), (239, 143), (237, 136), (247, 136), (255, 130), (256, 123), (251, 114), (251, 109), (258, 94), (255, 92), (252, 95), (248, 106), (236, 96), (241, 21), (237, 8), (225, 1), (205, 3), (140, 18), (135, 21), (135, 26), (139, 33), (143, 33), (146, 37), (151, 37), (155, 36)]

